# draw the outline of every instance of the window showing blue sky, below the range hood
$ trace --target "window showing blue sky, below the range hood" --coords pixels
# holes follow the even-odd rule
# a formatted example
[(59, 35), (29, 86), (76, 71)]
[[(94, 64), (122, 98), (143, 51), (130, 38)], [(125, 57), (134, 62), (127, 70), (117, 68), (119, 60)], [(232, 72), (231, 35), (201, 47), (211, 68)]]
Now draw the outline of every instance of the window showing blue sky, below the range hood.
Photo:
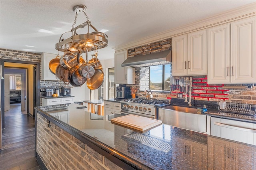
[(150, 90), (170, 91), (171, 65), (155, 65), (149, 68)]

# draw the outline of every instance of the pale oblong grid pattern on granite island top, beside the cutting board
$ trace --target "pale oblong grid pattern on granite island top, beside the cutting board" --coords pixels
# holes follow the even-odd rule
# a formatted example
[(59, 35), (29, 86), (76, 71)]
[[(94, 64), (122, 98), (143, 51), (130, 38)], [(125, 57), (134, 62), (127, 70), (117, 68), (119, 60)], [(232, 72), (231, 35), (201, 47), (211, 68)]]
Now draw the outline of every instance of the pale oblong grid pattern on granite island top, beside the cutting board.
[(137, 141), (141, 142), (142, 144), (145, 144), (146, 146), (150, 146), (157, 150), (161, 150), (162, 152), (167, 153), (172, 149), (170, 142), (166, 142), (164, 140), (160, 140), (158, 138), (154, 138), (154, 137), (148, 136), (146, 134), (132, 132), (129, 134), (125, 134), (124, 136), (127, 138), (131, 138), (133, 140), (137, 140)]

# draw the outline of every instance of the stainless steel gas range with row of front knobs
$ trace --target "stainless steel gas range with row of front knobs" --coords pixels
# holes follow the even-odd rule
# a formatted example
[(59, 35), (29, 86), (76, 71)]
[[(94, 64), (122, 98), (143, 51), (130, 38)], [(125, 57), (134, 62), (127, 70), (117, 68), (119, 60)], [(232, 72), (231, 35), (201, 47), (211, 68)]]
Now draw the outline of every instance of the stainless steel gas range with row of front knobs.
[(157, 105), (169, 104), (168, 100), (157, 99), (126, 99), (120, 101), (121, 113), (133, 114), (157, 119)]

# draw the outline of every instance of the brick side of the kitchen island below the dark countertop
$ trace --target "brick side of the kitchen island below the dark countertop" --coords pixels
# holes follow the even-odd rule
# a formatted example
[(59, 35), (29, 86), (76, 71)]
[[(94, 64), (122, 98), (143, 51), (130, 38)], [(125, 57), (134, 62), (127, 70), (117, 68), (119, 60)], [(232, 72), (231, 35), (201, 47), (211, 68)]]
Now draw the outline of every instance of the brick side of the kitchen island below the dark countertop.
[(36, 152), (49, 170), (121, 170), (119, 166), (102, 156), (76, 137), (37, 115)]

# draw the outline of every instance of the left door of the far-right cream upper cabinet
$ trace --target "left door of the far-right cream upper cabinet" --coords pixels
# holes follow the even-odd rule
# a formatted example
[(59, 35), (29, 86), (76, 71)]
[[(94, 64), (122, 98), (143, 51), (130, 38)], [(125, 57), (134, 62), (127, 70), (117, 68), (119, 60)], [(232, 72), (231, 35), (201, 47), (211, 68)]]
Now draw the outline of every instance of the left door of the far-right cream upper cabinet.
[(208, 83), (230, 83), (230, 24), (207, 30)]

